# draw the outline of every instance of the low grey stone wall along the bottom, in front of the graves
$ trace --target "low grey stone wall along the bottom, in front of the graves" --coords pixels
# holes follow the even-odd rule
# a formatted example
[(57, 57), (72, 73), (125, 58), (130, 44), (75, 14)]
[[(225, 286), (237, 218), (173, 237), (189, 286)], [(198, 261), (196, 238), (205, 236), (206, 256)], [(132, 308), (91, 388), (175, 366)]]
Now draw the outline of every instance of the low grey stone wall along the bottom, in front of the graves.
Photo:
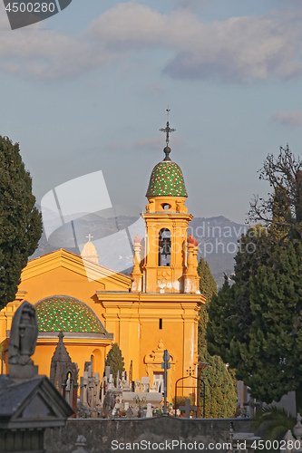
[(87, 439), (85, 449), (89, 453), (156, 449), (179, 453), (201, 451), (202, 447), (204, 451), (209, 448), (212, 452), (227, 453), (231, 421), (236, 432), (254, 431), (249, 419), (69, 419), (64, 428), (46, 430), (45, 448), (46, 453), (72, 453), (76, 449), (75, 439), (82, 434)]

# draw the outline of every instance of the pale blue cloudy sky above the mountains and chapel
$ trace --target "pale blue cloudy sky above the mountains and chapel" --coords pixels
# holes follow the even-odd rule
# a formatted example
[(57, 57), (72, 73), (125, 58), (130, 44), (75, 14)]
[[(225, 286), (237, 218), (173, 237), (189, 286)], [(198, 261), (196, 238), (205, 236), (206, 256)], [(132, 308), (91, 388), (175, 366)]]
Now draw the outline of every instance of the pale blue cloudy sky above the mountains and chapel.
[(301, 157), (301, 20), (299, 0), (73, 0), (11, 30), (1, 2), (0, 135), (38, 203), (102, 171), (113, 205), (143, 211), (169, 106), (190, 213), (244, 223), (268, 153)]

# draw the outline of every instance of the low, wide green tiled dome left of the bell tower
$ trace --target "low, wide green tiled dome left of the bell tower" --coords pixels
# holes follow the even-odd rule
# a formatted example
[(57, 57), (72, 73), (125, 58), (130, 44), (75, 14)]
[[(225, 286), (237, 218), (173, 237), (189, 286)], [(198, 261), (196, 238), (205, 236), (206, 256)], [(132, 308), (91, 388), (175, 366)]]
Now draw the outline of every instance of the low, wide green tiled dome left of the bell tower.
[(93, 310), (73, 297), (54, 295), (34, 308), (40, 332), (105, 332)]

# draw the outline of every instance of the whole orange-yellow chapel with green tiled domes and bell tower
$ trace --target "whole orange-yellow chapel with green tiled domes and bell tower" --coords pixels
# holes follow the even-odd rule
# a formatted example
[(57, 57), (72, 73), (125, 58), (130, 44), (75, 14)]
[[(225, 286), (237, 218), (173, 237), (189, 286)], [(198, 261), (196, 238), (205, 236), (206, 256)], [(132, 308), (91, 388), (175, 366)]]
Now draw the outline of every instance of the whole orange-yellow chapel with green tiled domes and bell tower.
[(132, 381), (148, 377), (161, 388), (163, 352), (168, 350), (168, 400), (182, 377), (189, 377), (183, 394), (195, 393), (199, 310), (206, 298), (199, 290), (198, 244), (188, 237), (192, 215), (185, 206), (184, 178), (170, 159), (169, 120), (163, 131), (164, 159), (151, 171), (148, 204), (141, 214), (146, 234), (134, 238), (131, 275), (101, 265), (91, 236), (81, 255), (59, 249), (29, 261), (15, 301), (0, 312), (2, 373), (9, 367), (12, 318), (26, 300), (34, 305), (39, 325), (32, 359), (40, 374), (50, 375), (63, 331), (79, 376), (85, 361), (92, 361), (93, 372), (102, 376), (106, 355), (117, 342)]

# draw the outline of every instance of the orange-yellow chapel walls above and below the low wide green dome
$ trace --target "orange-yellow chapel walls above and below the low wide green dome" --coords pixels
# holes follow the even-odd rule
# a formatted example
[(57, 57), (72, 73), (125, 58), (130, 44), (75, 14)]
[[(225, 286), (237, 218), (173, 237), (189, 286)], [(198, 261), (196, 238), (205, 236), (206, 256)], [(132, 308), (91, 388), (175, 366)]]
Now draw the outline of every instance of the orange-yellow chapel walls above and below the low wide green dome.
[[(114, 273), (112, 273), (111, 278), (105, 277), (101, 281), (89, 281), (85, 275), (83, 265), (80, 265), (79, 272), (76, 272), (76, 266), (74, 269), (73, 263), (61, 263), (54, 267), (54, 258), (58, 255), (59, 252), (54, 252), (54, 254), (36, 258), (32, 262), (29, 262), (25, 267), (21, 284), (18, 287), (19, 296), (16, 298), (15, 302), (7, 304), (0, 312), (0, 343), (3, 342), (4, 350), (8, 346), (8, 342), (5, 341), (6, 331), (11, 329), (15, 310), (24, 300), (27, 300), (30, 304), (36, 304), (42, 299), (53, 295), (70, 296), (87, 304), (93, 310), (93, 313), (100, 319), (101, 323), (103, 325), (105, 324), (103, 318), (104, 310), (97, 300), (96, 291), (104, 291), (105, 289), (107, 291), (121, 290), (119, 274), (114, 275)], [(81, 257), (74, 255), (72, 258), (77, 260), (77, 266), (82, 262)], [(54, 268), (52, 268), (52, 266)], [(70, 268), (72, 266), (73, 270)], [(98, 266), (94, 267), (97, 268)], [(122, 281), (122, 284), (126, 287), (127, 277), (122, 276), (122, 279), (125, 280)], [(131, 280), (129, 278), (128, 280), (130, 284)], [(128, 292), (126, 294), (128, 294)], [(109, 331), (109, 333), (111, 332)], [(106, 352), (109, 351), (112, 340), (67, 338), (67, 335), (68, 333), (66, 333), (63, 341), (72, 361), (78, 363), (80, 376), (83, 375), (84, 362), (90, 361), (91, 356), (93, 356), (94, 371), (98, 371), (102, 375)], [(57, 342), (57, 336), (52, 338), (41, 338), (40, 334), (33, 355), (34, 363), (39, 366), (40, 374), (49, 376), (51, 359), (54, 355), (54, 349)], [(7, 362), (7, 353), (5, 361)], [(7, 365), (3, 372), (7, 372)]]

